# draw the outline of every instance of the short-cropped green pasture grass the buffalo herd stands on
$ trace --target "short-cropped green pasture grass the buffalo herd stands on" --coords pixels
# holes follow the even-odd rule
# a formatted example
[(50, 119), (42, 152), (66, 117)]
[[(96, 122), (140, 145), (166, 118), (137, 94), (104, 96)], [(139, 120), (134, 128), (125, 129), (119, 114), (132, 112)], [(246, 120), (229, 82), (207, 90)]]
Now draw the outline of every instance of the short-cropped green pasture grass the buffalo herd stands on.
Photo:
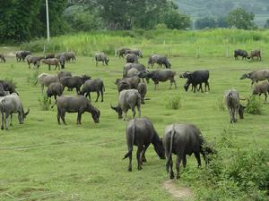
[[(246, 113), (245, 119), (236, 124), (230, 124), (227, 111), (219, 110), (225, 90), (236, 88), (243, 97), (251, 94), (250, 80), (239, 80), (239, 77), (247, 71), (268, 68), (268, 58), (251, 63), (234, 61), (231, 57), (172, 57), (170, 61), (172, 70), (178, 75), (183, 71), (209, 70), (211, 91), (203, 94), (185, 92), (183, 85), (186, 80), (179, 79), (178, 75), (178, 89), (169, 89), (169, 82), (166, 82), (154, 91), (151, 81), (147, 93), (151, 100), (142, 106), (142, 116), (152, 120), (161, 137), (166, 125), (191, 122), (202, 130), (208, 142), (218, 142), (223, 130), (227, 130), (240, 150), (268, 151), (268, 103), (263, 105), (262, 115)], [(140, 62), (146, 64), (147, 58)], [(146, 153), (148, 162), (143, 164), (140, 172), (136, 169), (135, 157), (133, 172), (127, 172), (128, 160), (122, 160), (127, 150), (126, 122), (118, 120), (117, 113), (109, 105), (117, 104), (114, 82), (122, 76), (123, 65), (124, 60), (112, 55), (108, 67), (101, 64), (96, 67), (93, 59), (86, 56), (78, 56), (76, 63), (66, 64), (66, 71), (75, 75), (86, 73), (104, 80), (106, 91), (104, 103), (93, 102), (100, 109), (99, 124), (92, 121), (91, 114), (84, 113), (82, 125), (76, 125), (76, 114), (67, 113), (65, 126), (57, 124), (56, 108), (41, 111), (39, 86), (27, 81), (34, 70), (29, 70), (26, 63), (16, 63), (15, 58), (0, 63), (1, 79), (13, 79), (24, 107), (30, 107), (23, 125), (14, 118), (10, 130), (0, 131), (0, 200), (174, 200), (162, 188), (162, 183), (169, 180), (165, 160), (157, 157), (152, 146)], [(48, 71), (45, 65), (39, 72), (56, 73)], [(65, 94), (74, 93), (65, 91)], [(181, 107), (168, 109), (169, 99), (178, 96)], [(95, 97), (96, 94), (91, 95), (92, 100)], [(130, 111), (128, 118), (131, 118)], [(135, 152), (136, 147), (133, 156)], [(195, 199), (210, 200), (201, 191), (206, 189), (210, 195), (217, 187), (206, 186), (203, 177), (199, 176), (203, 171), (204, 162), (202, 169), (198, 170), (195, 156), (188, 156), (187, 169), (181, 169), (182, 177), (175, 182), (178, 186), (191, 188)], [(221, 192), (227, 192), (227, 195), (219, 200), (254, 200), (251, 197), (246, 199), (246, 195), (233, 194), (229, 189)]]

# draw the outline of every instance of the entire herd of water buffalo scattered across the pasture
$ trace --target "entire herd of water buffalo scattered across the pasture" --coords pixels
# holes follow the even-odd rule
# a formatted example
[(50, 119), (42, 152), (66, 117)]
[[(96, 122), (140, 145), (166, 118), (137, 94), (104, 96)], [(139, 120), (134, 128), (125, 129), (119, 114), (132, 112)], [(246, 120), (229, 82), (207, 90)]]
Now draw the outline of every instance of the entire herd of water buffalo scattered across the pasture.
[[(147, 84), (150, 80), (154, 83), (154, 89), (157, 89), (159, 82), (170, 81), (170, 88), (174, 84), (177, 88), (175, 80), (176, 71), (171, 71), (171, 63), (166, 56), (153, 54), (148, 60), (148, 69), (138, 62), (139, 57), (143, 57), (142, 51), (132, 50), (129, 48), (121, 48), (117, 50), (119, 57), (126, 59), (126, 64), (123, 69), (123, 78), (117, 79), (115, 84), (118, 91), (118, 105), (112, 106), (111, 109), (117, 112), (118, 118), (126, 120), (127, 111), (132, 110), (133, 119), (127, 122), (126, 125), (126, 143), (128, 152), (124, 158), (129, 158), (128, 171), (132, 171), (132, 151), (133, 147), (137, 146), (136, 159), (138, 163), (138, 170), (142, 169), (143, 162), (146, 162), (146, 149), (153, 145), (154, 150), (161, 159), (167, 158), (167, 171), (170, 173), (170, 178), (174, 178), (172, 170), (172, 153), (177, 155), (176, 169), (177, 178), (179, 178), (179, 164), (183, 163), (186, 166), (186, 155), (195, 154), (198, 165), (201, 165), (200, 154), (203, 155), (205, 163), (208, 163), (208, 154), (213, 154), (215, 151), (213, 147), (207, 144), (202, 137), (201, 131), (192, 124), (178, 124), (174, 123), (166, 127), (164, 137), (159, 138), (156, 130), (152, 125), (152, 121), (147, 118), (141, 118), (141, 104), (145, 103)], [(234, 57), (238, 59), (243, 58), (261, 59), (259, 50), (252, 51), (250, 55), (244, 50), (235, 50)], [(108, 65), (109, 58), (104, 53), (97, 53), (94, 55), (96, 65), (99, 62)], [(5, 62), (4, 54), (0, 54), (0, 59)], [(29, 68), (30, 64), (39, 69), (40, 63), (48, 64), (48, 70), (51, 65), (55, 65), (55, 70), (58, 68), (65, 69), (65, 62), (76, 61), (74, 52), (66, 52), (61, 54), (47, 54), (46, 56), (34, 56), (29, 51), (18, 51), (16, 53), (17, 62), (27, 61)], [(150, 71), (154, 64), (159, 65), (159, 69)], [(161, 69), (164, 66), (165, 69)], [(180, 78), (186, 79), (184, 85), (187, 91), (189, 86), (192, 86), (194, 93), (197, 91), (210, 90), (209, 87), (209, 71), (186, 71), (179, 75)], [(269, 92), (269, 70), (251, 71), (242, 75), (240, 78), (252, 80), (251, 86), (259, 80), (266, 80), (256, 84), (253, 89), (254, 95), (265, 94), (265, 101), (267, 93)], [(267, 81), (268, 80), (268, 81)], [(103, 80), (91, 79), (90, 76), (74, 76), (69, 71), (58, 71), (57, 74), (41, 73), (35, 84), (39, 82), (41, 93), (43, 94), (44, 87), (47, 87), (47, 96), (54, 96), (57, 106), (57, 122), (60, 124), (62, 120), (65, 124), (65, 113), (78, 113), (77, 124), (82, 123), (82, 113), (91, 113), (94, 122), (98, 123), (100, 120), (100, 110), (91, 104), (91, 92), (97, 93), (96, 102), (101, 95), (101, 102), (104, 101), (105, 85)], [(146, 84), (147, 83), (147, 84)], [(204, 83), (204, 90), (203, 90)], [(76, 89), (76, 96), (64, 95), (65, 88), (67, 90)], [(89, 97), (89, 99), (87, 98)], [(240, 105), (239, 92), (233, 89), (228, 90), (224, 95), (225, 103), (230, 112), (230, 122), (237, 122), (237, 115), (243, 118), (245, 106)], [(52, 107), (54, 106), (52, 105)], [(137, 108), (139, 118), (134, 118), (135, 107)], [(5, 80), (0, 80), (0, 110), (2, 113), (2, 127), (7, 130), (7, 120), (11, 117), (10, 125), (12, 125), (13, 113), (18, 113), (19, 122), (23, 120), (30, 112), (24, 112), (22, 101), (19, 93), (15, 90), (13, 83)]]

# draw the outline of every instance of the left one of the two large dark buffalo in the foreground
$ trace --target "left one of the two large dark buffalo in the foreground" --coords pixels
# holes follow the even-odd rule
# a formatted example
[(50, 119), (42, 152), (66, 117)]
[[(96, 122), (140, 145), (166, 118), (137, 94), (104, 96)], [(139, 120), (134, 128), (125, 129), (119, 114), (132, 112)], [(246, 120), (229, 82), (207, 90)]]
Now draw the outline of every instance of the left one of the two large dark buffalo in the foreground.
[(134, 118), (134, 120), (127, 122), (126, 144), (128, 147), (128, 152), (123, 159), (129, 157), (129, 172), (132, 171), (133, 147), (137, 146), (137, 169), (140, 171), (142, 169), (143, 162), (146, 162), (144, 155), (151, 143), (157, 155), (159, 155), (161, 159), (165, 159), (161, 138), (159, 138), (158, 133), (154, 129), (152, 121), (146, 118)]

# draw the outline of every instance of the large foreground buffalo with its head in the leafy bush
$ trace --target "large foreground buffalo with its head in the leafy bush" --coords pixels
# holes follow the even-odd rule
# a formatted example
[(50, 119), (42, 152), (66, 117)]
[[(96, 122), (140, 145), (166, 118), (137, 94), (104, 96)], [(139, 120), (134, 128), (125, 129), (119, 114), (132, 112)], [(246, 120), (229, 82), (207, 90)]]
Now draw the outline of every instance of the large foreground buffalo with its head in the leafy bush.
[(186, 167), (186, 155), (192, 155), (194, 153), (198, 166), (201, 166), (200, 153), (203, 155), (205, 163), (208, 163), (206, 156), (213, 154), (212, 148), (206, 145), (201, 131), (192, 124), (171, 124), (167, 126), (162, 142), (167, 157), (167, 172), (170, 169), (170, 179), (174, 178), (172, 154), (177, 155), (177, 179), (180, 177), (179, 165), (181, 160), (183, 167)]

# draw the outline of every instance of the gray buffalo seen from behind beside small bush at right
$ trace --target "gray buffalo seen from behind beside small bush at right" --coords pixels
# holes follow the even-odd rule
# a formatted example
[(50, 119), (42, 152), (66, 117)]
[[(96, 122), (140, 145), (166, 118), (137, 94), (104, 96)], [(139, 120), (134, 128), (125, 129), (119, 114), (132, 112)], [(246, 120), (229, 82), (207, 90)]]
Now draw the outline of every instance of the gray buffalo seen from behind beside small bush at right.
[(246, 107), (240, 105), (239, 92), (233, 89), (228, 90), (224, 96), (224, 99), (230, 113), (230, 123), (238, 121), (238, 114), (240, 119), (244, 119), (244, 109)]

